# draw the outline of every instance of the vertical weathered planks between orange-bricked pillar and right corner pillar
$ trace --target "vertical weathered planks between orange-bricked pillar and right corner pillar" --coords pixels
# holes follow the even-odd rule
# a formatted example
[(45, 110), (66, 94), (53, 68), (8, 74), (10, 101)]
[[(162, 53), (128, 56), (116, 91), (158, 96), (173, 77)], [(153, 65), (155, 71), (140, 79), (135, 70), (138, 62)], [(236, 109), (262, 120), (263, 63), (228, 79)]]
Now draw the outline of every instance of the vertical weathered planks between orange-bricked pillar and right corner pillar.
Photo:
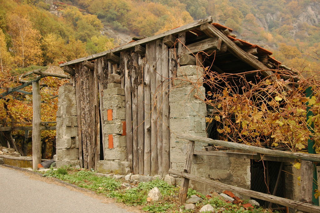
[(169, 78), (177, 70), (176, 51), (157, 40), (146, 45), (144, 54), (132, 50), (120, 55), (124, 61), (127, 154), (134, 174), (168, 174)]

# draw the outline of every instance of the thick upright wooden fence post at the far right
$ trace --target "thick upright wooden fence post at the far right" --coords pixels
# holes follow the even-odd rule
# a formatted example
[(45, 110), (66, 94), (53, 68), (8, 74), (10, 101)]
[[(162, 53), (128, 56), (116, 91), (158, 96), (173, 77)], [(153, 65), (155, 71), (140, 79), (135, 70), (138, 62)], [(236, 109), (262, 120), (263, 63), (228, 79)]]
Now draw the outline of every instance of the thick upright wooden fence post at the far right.
[[(312, 204), (313, 162), (301, 160), (300, 202)], [(296, 213), (304, 213), (298, 210)]]

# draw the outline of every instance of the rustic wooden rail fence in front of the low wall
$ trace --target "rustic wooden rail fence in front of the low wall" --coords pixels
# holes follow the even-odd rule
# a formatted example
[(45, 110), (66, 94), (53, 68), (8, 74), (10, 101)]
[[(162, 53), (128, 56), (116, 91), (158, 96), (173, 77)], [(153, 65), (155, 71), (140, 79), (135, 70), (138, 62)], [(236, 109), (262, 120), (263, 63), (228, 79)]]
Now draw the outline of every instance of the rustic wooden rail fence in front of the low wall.
[[(192, 135), (179, 135), (178, 138), (188, 140), (188, 146), (187, 146), (187, 153), (186, 153), (186, 164), (183, 172), (169, 169), (169, 173), (173, 175), (181, 176), (181, 187), (179, 191), (179, 201), (181, 203), (185, 203), (187, 198), (187, 192), (188, 192), (188, 186), (189, 186), (189, 180), (193, 180), (199, 183), (207, 184), (210, 186), (213, 186), (215, 188), (221, 189), (221, 190), (230, 190), (239, 194), (243, 194), (246, 196), (250, 196), (253, 198), (261, 199), (264, 201), (268, 201), (270, 203), (276, 203), (283, 206), (287, 206), (293, 209), (298, 209), (300, 212), (308, 212), (308, 213), (315, 213), (320, 212), (320, 207), (312, 205), (310, 203), (310, 197), (312, 196), (312, 178), (311, 183), (310, 181), (304, 181), (304, 179), (308, 179), (310, 176), (313, 175), (313, 163), (312, 162), (320, 162), (320, 156), (314, 155), (314, 154), (304, 154), (304, 153), (297, 153), (297, 152), (284, 152), (284, 151), (276, 151), (276, 150), (270, 150), (266, 148), (261, 147), (255, 147), (255, 146), (248, 146), (241, 143), (232, 143), (227, 141), (220, 141), (220, 140), (212, 140), (210, 138), (204, 138), (204, 137), (198, 137), (198, 136), (192, 136)], [(194, 151), (195, 147), (195, 141), (201, 142), (201, 143), (207, 143), (207, 144), (213, 144), (213, 145), (220, 145), (225, 146), (229, 148), (236, 148), (241, 150), (247, 150), (250, 152), (257, 152), (260, 154), (267, 154), (269, 157), (274, 156), (277, 158), (289, 158), (289, 159), (300, 159), (303, 160), (302, 163), (304, 166), (301, 166), (301, 190), (300, 190), (300, 201), (293, 201), (286, 198), (277, 197), (270, 194), (260, 193), (248, 189), (243, 189), (240, 187), (223, 184), (220, 182), (208, 180), (202, 177), (198, 177), (195, 175), (191, 175), (191, 166), (192, 166), (192, 158), (194, 154), (204, 154), (204, 152), (201, 151)], [(210, 155), (210, 154), (206, 154)], [(235, 156), (234, 156), (235, 157)]]

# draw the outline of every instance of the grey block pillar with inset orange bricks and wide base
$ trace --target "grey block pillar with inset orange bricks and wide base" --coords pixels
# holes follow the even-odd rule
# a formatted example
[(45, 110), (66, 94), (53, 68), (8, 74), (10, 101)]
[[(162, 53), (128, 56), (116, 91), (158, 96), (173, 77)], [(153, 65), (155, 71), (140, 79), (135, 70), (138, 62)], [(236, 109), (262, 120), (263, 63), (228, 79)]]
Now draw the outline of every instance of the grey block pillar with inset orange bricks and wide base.
[(130, 173), (125, 136), (125, 99), (120, 84), (108, 84), (103, 91), (105, 160), (97, 164), (99, 172)]

